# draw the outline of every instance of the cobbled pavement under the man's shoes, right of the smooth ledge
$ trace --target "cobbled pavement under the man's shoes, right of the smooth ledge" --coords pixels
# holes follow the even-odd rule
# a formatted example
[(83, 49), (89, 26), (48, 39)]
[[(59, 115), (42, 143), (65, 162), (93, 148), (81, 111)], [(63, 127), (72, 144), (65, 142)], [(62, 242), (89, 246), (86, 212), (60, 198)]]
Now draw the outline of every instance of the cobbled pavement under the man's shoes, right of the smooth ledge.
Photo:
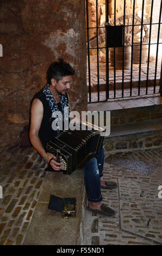
[[(116, 211), (113, 217), (85, 210), (84, 245), (160, 245), (162, 244), (162, 149), (116, 153), (105, 158), (104, 178), (116, 181), (118, 188), (102, 190), (103, 203)], [(115, 166), (112, 157), (129, 157), (156, 167), (144, 175)]]

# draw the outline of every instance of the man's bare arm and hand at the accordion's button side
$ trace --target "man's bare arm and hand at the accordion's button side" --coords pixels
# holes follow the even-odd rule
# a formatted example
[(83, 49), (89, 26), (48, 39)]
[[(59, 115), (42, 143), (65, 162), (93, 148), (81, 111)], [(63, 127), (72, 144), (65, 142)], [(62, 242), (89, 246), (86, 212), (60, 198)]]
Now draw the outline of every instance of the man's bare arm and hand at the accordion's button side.
[(53, 154), (47, 154), (40, 141), (39, 129), (41, 126), (42, 118), (43, 118), (42, 102), (39, 99), (34, 99), (32, 103), (32, 108), (31, 108), (31, 121), (30, 121), (30, 131), (29, 131), (30, 141), (34, 149), (40, 154), (42, 159), (44, 156), (46, 156), (46, 161), (49, 162), (49, 160), (53, 158), (54, 160), (52, 160), (50, 163), (52, 168), (54, 170), (60, 170), (61, 164), (55, 161), (57, 160), (56, 156), (54, 156)]

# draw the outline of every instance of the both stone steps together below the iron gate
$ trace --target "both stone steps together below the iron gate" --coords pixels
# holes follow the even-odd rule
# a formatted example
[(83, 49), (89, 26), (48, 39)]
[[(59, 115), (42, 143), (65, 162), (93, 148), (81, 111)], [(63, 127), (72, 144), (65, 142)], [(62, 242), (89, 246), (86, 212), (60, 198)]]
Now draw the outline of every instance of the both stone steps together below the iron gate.
[(155, 148), (162, 145), (162, 97), (90, 103), (88, 110), (110, 111), (110, 135), (105, 153)]

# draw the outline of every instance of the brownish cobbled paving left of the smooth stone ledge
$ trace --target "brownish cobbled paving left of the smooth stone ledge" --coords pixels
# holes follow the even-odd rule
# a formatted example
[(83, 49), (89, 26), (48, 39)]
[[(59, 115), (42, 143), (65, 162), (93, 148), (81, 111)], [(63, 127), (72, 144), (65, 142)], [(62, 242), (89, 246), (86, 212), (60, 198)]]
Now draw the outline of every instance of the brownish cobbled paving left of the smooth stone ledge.
[(0, 245), (22, 245), (43, 186), (45, 164), (32, 148), (2, 148), (0, 155)]

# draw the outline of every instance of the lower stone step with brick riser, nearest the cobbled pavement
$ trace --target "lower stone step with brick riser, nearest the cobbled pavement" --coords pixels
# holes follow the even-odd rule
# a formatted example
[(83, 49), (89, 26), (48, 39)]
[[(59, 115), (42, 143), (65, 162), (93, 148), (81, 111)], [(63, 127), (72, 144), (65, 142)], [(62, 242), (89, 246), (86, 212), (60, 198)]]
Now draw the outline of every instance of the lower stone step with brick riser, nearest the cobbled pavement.
[(162, 147), (162, 118), (111, 126), (104, 145), (105, 153)]

